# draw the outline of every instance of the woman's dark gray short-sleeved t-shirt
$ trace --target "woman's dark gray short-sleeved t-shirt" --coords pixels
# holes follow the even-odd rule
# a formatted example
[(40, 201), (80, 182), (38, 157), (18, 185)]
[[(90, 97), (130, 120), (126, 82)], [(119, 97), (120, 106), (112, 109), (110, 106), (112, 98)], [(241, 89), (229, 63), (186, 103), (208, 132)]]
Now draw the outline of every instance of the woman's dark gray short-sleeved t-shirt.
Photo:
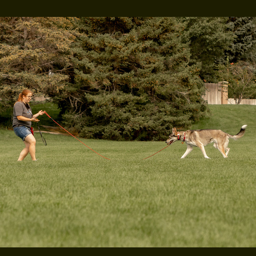
[(18, 125), (24, 125), (27, 127), (31, 127), (31, 121), (20, 121), (17, 116), (23, 116), (27, 118), (32, 118), (32, 110), (29, 104), (25, 104), (24, 102), (17, 101), (13, 107), (13, 120), (12, 127), (17, 127)]

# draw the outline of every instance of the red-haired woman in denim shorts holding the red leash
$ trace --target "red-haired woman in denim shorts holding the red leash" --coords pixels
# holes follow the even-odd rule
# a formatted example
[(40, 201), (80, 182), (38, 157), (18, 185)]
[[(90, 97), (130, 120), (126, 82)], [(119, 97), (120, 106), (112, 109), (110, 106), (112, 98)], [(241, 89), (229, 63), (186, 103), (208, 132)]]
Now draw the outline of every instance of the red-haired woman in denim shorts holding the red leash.
[(44, 111), (40, 110), (33, 115), (29, 102), (32, 99), (32, 92), (23, 90), (19, 94), (18, 101), (13, 107), (12, 128), (15, 134), (24, 141), (25, 148), (20, 152), (18, 161), (22, 161), (29, 153), (32, 160), (36, 161), (36, 139), (30, 131), (31, 121), (38, 122), (38, 116), (43, 115)]

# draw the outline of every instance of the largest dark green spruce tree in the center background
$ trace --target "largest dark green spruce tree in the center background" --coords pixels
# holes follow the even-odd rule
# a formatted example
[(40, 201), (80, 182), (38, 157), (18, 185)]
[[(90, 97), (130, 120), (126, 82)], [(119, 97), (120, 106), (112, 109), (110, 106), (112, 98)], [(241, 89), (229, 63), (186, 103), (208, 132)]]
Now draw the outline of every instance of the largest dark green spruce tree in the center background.
[(173, 17), (84, 17), (74, 73), (56, 102), (86, 138), (164, 139), (205, 115), (200, 65)]

